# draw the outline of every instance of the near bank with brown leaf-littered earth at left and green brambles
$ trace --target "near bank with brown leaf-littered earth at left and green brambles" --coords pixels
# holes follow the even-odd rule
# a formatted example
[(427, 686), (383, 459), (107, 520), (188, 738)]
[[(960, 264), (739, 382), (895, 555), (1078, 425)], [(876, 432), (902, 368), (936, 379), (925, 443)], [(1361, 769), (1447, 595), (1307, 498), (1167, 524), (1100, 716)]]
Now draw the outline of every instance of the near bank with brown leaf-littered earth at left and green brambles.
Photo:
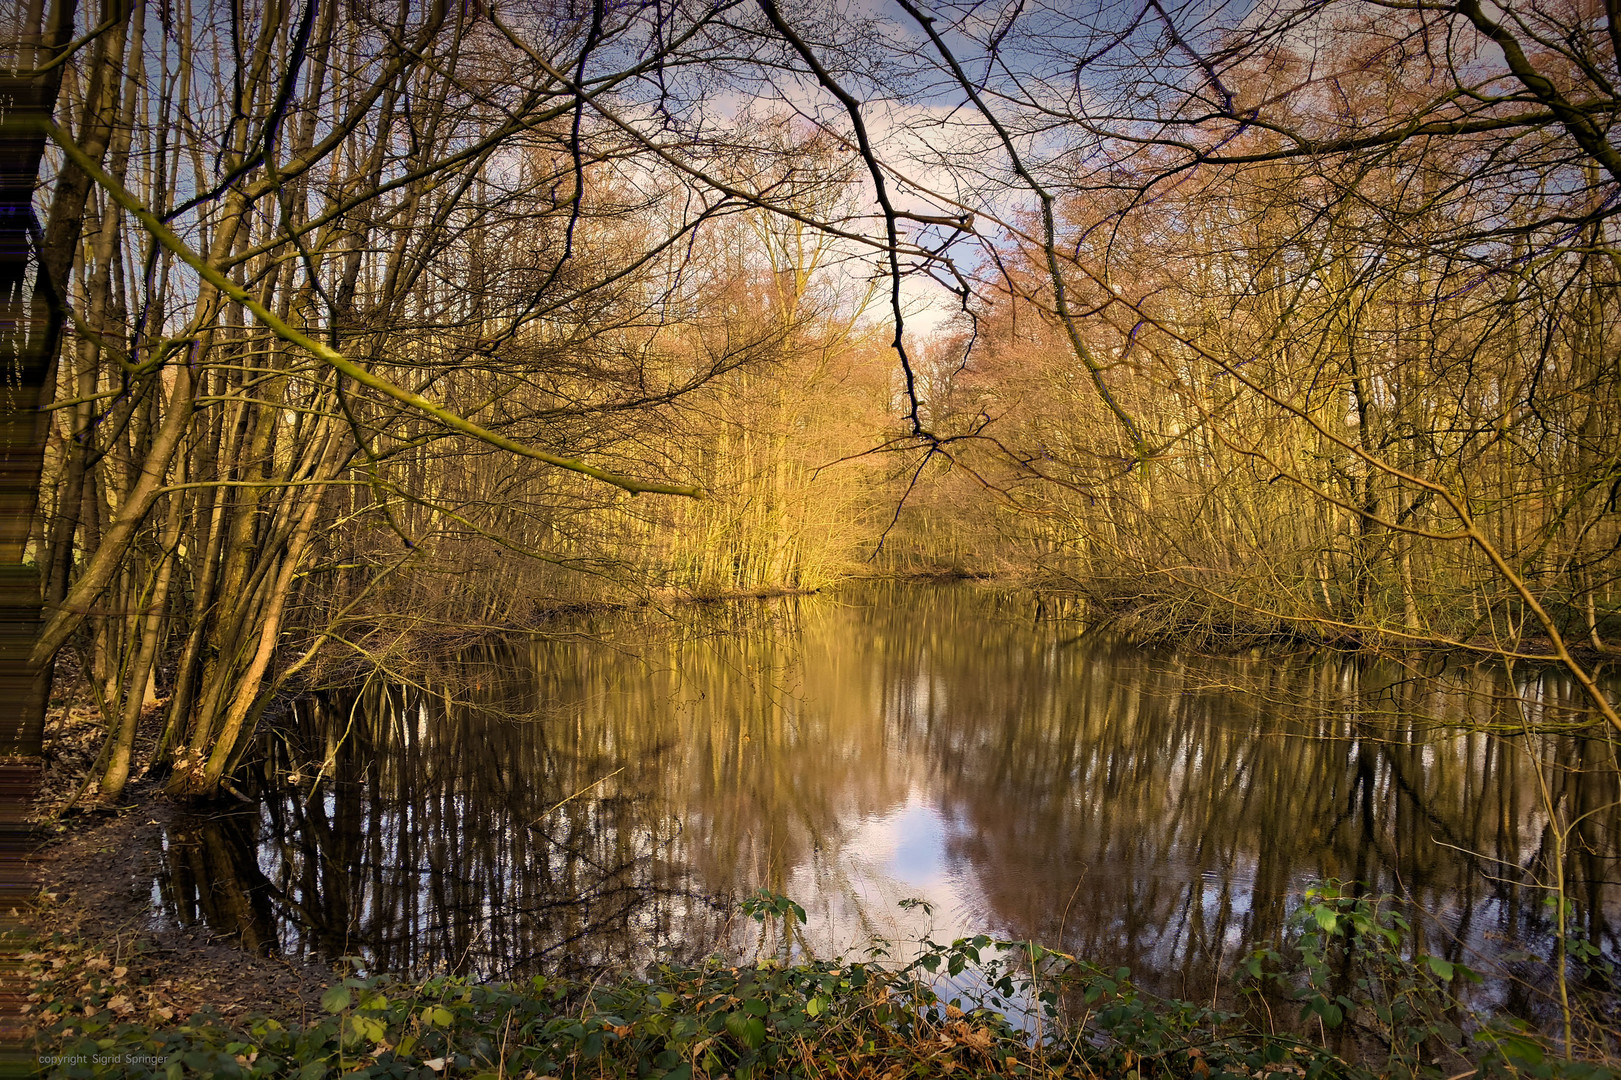
[[(60, 879), (42, 897), (39, 941), (26, 955), (41, 1075), (1621, 1077), (1606, 1062), (1563, 1061), (1524, 1030), (1452, 1026), (1446, 984), (1456, 973), (1433, 962), (1404, 970), (1405, 1015), (1392, 1022), (1370, 1009), (1357, 1028), (1347, 1022), (1363, 1002), (1329, 999), (1308, 975), (1294, 997), (1321, 1039), (1144, 994), (1125, 970), (987, 937), (930, 944), (906, 965), (806, 960), (778, 949), (751, 963), (666, 963), (590, 983), (323, 971), (143, 923), (141, 859), (165, 799), (146, 790), (133, 796), (41, 863)], [(780, 929), (778, 942), (804, 919), (798, 905), (763, 892), (742, 910)], [(1307, 931), (1308, 950), (1313, 942), (1332, 947), (1324, 911), (1342, 915), (1341, 934), (1349, 936), (1370, 908), (1319, 894), (1303, 923), (1316, 926)], [(1376, 939), (1381, 926), (1375, 913), (1363, 932)], [(1294, 983), (1279, 975), (1279, 986)], [(1379, 1031), (1383, 1038), (1370, 1038)]]

